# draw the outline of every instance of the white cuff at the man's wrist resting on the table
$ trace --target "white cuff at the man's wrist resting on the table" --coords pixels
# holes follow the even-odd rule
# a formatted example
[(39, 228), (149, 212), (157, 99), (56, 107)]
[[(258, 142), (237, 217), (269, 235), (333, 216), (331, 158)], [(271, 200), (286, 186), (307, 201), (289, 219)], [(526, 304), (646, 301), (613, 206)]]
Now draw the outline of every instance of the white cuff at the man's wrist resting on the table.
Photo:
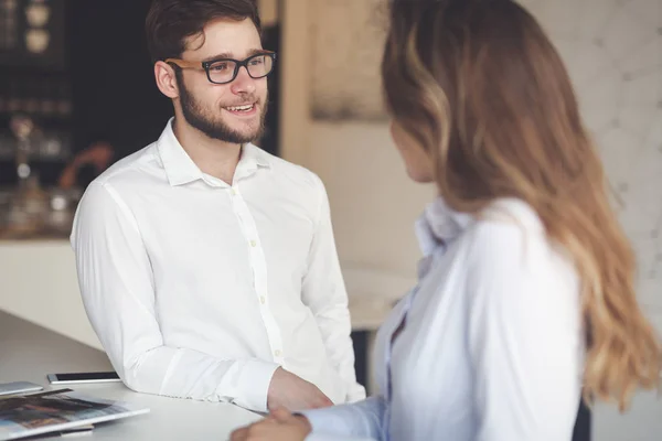
[(276, 363), (261, 359), (247, 361), (237, 379), (237, 397), (234, 404), (256, 412), (267, 412), (269, 385), (279, 367)]

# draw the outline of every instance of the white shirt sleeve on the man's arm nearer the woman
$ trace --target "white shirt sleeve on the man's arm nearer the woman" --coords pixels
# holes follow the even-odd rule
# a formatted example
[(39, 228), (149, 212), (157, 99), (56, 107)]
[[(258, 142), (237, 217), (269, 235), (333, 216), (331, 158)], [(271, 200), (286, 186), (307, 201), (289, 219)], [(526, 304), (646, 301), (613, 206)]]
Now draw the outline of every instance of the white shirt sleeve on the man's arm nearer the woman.
[(317, 320), (333, 368), (344, 380), (345, 400), (356, 401), (365, 398), (365, 389), (356, 383), (348, 293), (335, 249), (327, 191), (317, 175), (314, 179), (319, 189), (319, 215), (302, 282), (302, 299)]

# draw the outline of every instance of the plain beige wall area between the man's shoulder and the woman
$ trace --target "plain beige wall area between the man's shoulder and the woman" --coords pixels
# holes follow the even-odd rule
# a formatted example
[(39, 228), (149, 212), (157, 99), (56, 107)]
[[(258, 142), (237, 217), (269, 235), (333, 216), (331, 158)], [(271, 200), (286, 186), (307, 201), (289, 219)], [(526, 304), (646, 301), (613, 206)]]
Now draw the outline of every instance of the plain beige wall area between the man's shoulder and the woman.
[(419, 257), (413, 223), (434, 197), (413, 183), (375, 123), (314, 123), (307, 165), (324, 181), (345, 267), (414, 277)]

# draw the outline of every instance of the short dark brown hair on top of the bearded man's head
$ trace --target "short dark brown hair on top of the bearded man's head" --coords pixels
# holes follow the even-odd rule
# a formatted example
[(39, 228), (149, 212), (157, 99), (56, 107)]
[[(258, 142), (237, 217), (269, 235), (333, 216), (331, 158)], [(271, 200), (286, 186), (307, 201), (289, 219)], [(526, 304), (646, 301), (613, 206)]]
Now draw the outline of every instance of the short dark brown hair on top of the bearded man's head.
[(260, 32), (256, 0), (152, 0), (145, 23), (152, 63), (180, 57), (188, 37), (202, 34), (209, 22), (220, 19), (250, 19)]

